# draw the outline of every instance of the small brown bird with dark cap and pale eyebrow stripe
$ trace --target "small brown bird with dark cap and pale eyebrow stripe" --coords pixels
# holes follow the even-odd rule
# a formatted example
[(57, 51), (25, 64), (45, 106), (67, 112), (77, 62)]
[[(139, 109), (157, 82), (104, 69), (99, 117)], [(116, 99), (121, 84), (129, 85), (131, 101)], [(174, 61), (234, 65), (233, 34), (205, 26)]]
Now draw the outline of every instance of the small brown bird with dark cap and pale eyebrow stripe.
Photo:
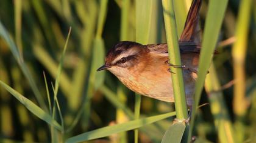
[(193, 104), (199, 53), (201, 50), (199, 9), (201, 0), (194, 0), (188, 12), (185, 28), (179, 39), (182, 65), (169, 64), (167, 44), (142, 45), (118, 42), (109, 50), (105, 64), (98, 68), (109, 70), (130, 90), (161, 101), (174, 102), (169, 66), (183, 69), (188, 107)]

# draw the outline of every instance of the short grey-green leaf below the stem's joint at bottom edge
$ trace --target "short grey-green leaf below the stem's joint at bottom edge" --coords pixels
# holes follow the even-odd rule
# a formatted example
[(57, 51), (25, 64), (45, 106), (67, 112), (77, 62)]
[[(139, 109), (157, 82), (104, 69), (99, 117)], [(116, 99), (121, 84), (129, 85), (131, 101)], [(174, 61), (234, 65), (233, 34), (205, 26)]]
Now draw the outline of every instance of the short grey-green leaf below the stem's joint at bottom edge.
[(181, 142), (185, 128), (186, 125), (182, 122), (176, 122), (172, 124), (171, 127), (166, 130), (165, 135), (162, 139), (162, 143)]

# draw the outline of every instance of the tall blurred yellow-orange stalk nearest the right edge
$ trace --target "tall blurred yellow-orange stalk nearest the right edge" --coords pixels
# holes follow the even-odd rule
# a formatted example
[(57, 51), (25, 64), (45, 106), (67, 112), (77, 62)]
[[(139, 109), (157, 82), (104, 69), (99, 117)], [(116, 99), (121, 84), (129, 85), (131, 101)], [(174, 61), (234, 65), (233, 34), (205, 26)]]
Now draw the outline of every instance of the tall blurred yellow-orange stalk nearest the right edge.
[[(244, 133), (246, 131), (245, 116), (248, 108), (246, 99), (246, 51), (247, 39), (249, 34), (249, 25), (252, 10), (252, 0), (244, 0), (240, 2), (238, 20), (236, 24), (236, 41), (233, 44), (233, 76), (235, 80), (233, 90), (233, 111), (236, 116), (235, 130), (238, 142), (244, 141)], [(249, 45), (248, 45), (249, 47)]]

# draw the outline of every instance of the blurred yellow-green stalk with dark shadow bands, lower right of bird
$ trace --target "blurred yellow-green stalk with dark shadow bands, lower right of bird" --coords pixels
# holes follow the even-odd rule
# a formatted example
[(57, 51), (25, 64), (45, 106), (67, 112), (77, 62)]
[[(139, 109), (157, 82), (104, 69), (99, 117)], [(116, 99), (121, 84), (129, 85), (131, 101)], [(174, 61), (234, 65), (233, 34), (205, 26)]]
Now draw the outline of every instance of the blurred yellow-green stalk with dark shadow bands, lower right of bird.
[(215, 119), (215, 127), (218, 133), (220, 142), (235, 142), (233, 125), (230, 121), (230, 116), (227, 110), (227, 105), (224, 102), (221, 86), (219, 85), (218, 76), (215, 67), (212, 64), (209, 68), (209, 73), (205, 79), (205, 90), (207, 91), (210, 101), (210, 109)]

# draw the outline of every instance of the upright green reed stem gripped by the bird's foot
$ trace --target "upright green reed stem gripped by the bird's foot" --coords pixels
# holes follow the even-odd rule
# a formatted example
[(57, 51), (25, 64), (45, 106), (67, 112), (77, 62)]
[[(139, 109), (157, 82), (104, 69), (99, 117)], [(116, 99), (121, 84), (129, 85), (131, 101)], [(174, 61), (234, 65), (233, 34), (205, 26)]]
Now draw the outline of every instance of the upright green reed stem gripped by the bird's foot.
[[(166, 39), (168, 44), (169, 63), (181, 65), (179, 42), (176, 29), (173, 1), (162, 0), (163, 17), (165, 19)], [(170, 67), (177, 119), (187, 119), (187, 102), (182, 77), (182, 69)], [(170, 95), (171, 96), (171, 95)]]

